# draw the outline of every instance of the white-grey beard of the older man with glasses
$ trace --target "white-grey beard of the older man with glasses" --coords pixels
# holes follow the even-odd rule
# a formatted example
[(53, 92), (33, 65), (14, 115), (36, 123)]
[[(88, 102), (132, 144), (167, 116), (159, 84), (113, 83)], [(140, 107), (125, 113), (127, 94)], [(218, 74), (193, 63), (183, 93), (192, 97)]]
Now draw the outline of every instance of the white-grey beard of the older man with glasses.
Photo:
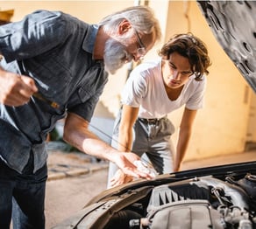
[(132, 61), (132, 56), (125, 51), (124, 45), (112, 38), (106, 42), (103, 58), (105, 70), (111, 74), (116, 73), (125, 63)]

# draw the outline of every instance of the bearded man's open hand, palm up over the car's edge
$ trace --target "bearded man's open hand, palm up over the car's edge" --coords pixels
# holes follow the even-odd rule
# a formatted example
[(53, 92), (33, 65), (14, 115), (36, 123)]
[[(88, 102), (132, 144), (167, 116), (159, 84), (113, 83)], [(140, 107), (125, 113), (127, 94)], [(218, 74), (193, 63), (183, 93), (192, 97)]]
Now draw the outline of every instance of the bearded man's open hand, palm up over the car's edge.
[(136, 165), (134, 165), (135, 161), (140, 160), (140, 157), (134, 153), (127, 152), (117, 152), (113, 157), (112, 162), (116, 163), (117, 166), (124, 172), (124, 174), (135, 177), (135, 178), (145, 178), (145, 179), (153, 179), (149, 173), (138, 170)]

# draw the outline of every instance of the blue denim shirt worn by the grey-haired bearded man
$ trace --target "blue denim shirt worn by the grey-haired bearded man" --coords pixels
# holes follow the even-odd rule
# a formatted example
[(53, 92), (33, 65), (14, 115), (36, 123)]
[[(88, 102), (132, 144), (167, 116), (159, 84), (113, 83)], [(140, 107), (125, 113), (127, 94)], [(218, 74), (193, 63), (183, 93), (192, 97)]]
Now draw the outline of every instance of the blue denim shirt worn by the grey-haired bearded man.
[(0, 26), (0, 66), (35, 80), (38, 96), (20, 107), (0, 103), (0, 157), (22, 173), (30, 154), (34, 172), (47, 158), (46, 135), (56, 121), (75, 113), (90, 121), (108, 75), (92, 53), (97, 26), (60, 11), (38, 10)]

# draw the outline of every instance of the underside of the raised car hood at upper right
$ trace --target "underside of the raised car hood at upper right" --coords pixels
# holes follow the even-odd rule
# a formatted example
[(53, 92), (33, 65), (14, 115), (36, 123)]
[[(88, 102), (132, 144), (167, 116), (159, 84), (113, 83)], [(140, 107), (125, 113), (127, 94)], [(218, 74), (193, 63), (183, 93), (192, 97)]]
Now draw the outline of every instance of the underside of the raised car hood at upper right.
[(256, 1), (197, 1), (224, 52), (256, 92)]

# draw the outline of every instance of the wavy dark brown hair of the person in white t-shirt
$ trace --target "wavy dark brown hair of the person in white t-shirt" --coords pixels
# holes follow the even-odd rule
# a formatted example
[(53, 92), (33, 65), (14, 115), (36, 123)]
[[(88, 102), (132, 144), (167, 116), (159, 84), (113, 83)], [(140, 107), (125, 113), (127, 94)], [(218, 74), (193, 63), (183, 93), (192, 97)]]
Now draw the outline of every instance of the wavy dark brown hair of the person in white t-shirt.
[(178, 52), (181, 56), (188, 58), (191, 70), (196, 75), (195, 80), (201, 80), (203, 73), (209, 73), (207, 69), (211, 62), (207, 47), (191, 32), (174, 35), (161, 47), (159, 55), (169, 59), (173, 52)]

